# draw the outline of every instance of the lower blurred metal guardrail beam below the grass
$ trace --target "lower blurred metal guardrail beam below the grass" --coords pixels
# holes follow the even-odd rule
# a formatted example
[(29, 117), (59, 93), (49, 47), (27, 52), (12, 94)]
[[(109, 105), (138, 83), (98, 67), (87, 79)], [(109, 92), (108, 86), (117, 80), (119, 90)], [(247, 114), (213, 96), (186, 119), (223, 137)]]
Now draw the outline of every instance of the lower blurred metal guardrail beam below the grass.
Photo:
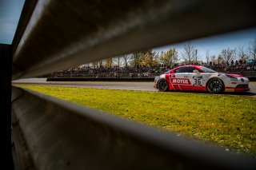
[(30, 90), (12, 90), (16, 162), (24, 169), (256, 168), (255, 160), (219, 148)]

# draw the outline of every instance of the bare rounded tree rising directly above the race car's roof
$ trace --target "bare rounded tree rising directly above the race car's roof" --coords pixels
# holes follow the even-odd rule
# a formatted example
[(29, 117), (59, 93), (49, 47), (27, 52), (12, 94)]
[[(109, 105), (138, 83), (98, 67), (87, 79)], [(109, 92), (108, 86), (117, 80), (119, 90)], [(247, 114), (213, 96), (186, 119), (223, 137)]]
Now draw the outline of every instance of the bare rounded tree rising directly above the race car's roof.
[(191, 64), (192, 61), (198, 60), (198, 49), (195, 48), (194, 45), (191, 45), (190, 43), (187, 43), (184, 45), (184, 50), (182, 51), (182, 59), (188, 63)]

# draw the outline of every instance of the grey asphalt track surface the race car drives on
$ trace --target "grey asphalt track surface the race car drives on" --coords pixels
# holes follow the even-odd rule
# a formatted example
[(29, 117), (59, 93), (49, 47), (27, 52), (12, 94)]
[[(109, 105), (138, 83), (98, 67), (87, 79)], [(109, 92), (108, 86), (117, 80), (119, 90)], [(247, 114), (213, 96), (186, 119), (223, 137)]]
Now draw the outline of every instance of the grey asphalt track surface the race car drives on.
[[(154, 89), (154, 82), (106, 82), (106, 81), (16, 81), (13, 85), (46, 85), (46, 86), (63, 86), (90, 89), (121, 89), (136, 91), (158, 92)], [(250, 91), (237, 93), (222, 93), (223, 95), (242, 95), (256, 97), (256, 82), (250, 82)], [(172, 92), (167, 92), (172, 93)], [(202, 93), (202, 92), (178, 92), (178, 93)]]

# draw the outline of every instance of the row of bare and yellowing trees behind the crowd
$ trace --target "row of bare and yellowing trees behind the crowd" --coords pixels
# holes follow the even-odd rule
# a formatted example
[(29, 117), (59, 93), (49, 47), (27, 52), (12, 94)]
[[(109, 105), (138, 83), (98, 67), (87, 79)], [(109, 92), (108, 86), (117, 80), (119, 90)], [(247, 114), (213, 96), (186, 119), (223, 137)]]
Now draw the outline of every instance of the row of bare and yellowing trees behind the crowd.
[(122, 66), (134, 66), (134, 67), (155, 67), (158, 65), (164, 65), (167, 67), (174, 67), (174, 65), (190, 65), (190, 64), (202, 64), (209, 63), (214, 64), (230, 64), (232, 61), (256, 61), (256, 38), (253, 38), (247, 48), (239, 46), (238, 48), (226, 48), (222, 49), (222, 52), (218, 55), (210, 55), (208, 50), (205, 54), (206, 61), (202, 61), (198, 54), (199, 50), (196, 46), (190, 42), (183, 45), (181, 53), (178, 55), (178, 50), (174, 47), (166, 51), (157, 53), (153, 49), (145, 49), (142, 51), (127, 53), (118, 57), (110, 57), (102, 61), (94, 61), (89, 65), (94, 67), (122, 67)]

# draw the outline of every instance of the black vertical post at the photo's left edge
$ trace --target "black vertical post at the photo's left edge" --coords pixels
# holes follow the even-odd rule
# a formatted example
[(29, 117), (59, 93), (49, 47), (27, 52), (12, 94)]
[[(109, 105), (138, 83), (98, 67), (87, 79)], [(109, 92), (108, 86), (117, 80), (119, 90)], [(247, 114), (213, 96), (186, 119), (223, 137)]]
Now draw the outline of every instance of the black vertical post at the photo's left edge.
[(0, 97), (2, 110), (0, 114), (0, 148), (2, 155), (2, 167), (14, 169), (11, 156), (11, 61), (12, 45), (0, 44), (1, 73), (0, 73)]

